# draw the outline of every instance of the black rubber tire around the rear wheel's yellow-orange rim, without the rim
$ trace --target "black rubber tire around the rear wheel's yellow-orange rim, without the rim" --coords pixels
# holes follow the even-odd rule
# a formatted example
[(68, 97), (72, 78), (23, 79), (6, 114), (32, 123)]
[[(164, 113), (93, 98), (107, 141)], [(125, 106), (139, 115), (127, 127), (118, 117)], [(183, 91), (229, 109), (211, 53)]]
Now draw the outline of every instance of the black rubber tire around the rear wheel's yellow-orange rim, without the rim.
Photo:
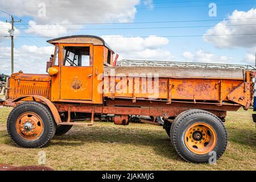
[(185, 131), (195, 123), (206, 123), (216, 133), (217, 141), (212, 151), (216, 152), (216, 160), (219, 159), (226, 150), (228, 144), (228, 134), (224, 124), (216, 115), (208, 111), (193, 109), (184, 111), (177, 118), (175, 123), (172, 124), (171, 140), (177, 151), (177, 154), (184, 160), (193, 163), (208, 163), (212, 155), (209, 154), (196, 154), (188, 149), (184, 141)]

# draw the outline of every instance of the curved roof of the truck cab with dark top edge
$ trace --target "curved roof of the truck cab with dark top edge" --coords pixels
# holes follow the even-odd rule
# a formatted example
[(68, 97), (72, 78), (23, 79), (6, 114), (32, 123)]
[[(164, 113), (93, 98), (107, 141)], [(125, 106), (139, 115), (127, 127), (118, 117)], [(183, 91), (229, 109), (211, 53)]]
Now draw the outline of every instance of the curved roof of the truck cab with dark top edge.
[(94, 44), (107, 47), (110, 51), (113, 51), (112, 48), (105, 42), (104, 39), (99, 36), (94, 35), (71, 35), (63, 36), (61, 38), (47, 40), (48, 43), (55, 45), (56, 43), (81, 43), (81, 44)]

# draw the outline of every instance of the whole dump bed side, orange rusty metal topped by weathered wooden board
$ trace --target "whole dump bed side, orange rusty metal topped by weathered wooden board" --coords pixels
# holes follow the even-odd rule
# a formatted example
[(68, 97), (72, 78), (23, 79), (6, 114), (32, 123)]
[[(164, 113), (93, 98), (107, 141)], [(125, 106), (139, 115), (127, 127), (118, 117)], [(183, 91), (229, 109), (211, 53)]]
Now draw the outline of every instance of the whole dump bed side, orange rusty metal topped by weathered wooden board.
[(123, 66), (104, 68), (104, 97), (217, 105), (253, 103), (249, 69)]

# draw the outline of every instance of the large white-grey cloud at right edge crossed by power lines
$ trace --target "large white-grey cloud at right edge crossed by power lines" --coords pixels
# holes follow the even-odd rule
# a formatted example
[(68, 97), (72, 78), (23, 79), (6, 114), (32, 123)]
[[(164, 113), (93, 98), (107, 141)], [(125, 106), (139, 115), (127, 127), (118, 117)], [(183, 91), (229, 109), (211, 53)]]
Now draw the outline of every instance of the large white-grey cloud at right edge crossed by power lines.
[[(255, 19), (253, 19), (255, 18)], [(256, 9), (249, 11), (234, 10), (228, 20), (216, 24), (204, 35), (205, 42), (213, 43), (218, 48), (252, 47), (256, 45), (256, 26), (237, 26), (239, 24), (256, 24)], [(228, 36), (228, 35), (235, 36)], [(208, 36), (207, 36), (208, 35)], [(224, 35), (224, 36), (209, 36)]]

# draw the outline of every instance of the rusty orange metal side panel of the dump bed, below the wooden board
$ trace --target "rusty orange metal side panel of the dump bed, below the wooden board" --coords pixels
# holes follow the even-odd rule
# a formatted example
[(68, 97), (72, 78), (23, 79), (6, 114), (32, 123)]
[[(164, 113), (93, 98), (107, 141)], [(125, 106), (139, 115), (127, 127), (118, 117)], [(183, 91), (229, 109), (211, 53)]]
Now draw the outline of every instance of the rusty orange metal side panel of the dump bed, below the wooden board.
[[(254, 90), (253, 72), (246, 71), (242, 78), (148, 78), (137, 76), (105, 76), (104, 97), (109, 100), (150, 100), (172, 102), (193, 102), (194, 104), (234, 105), (248, 108), (252, 104)], [(241, 85), (247, 85), (247, 92), (240, 92)], [(246, 102), (230, 99), (238, 96)]]

